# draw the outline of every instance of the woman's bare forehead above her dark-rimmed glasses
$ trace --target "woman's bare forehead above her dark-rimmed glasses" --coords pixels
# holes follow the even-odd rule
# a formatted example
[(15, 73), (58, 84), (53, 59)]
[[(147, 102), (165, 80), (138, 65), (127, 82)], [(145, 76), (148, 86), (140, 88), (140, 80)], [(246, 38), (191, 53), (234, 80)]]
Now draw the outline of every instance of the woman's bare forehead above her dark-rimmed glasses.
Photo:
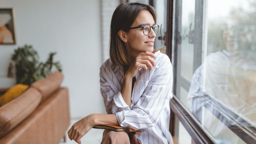
[(150, 24), (151, 26), (155, 24), (154, 18), (149, 11), (141, 11), (133, 22), (132, 26), (138, 26), (140, 24)]

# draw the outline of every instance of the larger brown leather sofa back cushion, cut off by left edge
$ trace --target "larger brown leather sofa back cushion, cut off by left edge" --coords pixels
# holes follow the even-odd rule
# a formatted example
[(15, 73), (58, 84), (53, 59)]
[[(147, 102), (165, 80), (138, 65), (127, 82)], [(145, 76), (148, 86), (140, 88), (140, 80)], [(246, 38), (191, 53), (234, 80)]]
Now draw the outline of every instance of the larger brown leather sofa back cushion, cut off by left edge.
[(37, 108), (41, 97), (39, 91), (30, 87), (16, 99), (0, 107), (0, 139)]

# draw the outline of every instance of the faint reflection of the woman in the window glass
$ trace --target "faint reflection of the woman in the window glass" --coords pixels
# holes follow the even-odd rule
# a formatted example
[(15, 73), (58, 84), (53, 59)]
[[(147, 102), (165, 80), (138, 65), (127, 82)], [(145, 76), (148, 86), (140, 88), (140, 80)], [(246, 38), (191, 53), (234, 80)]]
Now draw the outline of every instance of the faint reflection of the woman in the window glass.
[[(238, 115), (242, 115), (242, 118), (247, 118), (249, 122), (254, 123), (256, 120), (256, 107), (253, 105), (256, 101), (256, 76), (252, 73), (247, 76), (243, 69), (243, 67), (255, 66), (255, 62), (240, 56), (238, 51), (246, 49), (240, 47), (245, 41), (245, 36), (246, 31), (241, 24), (225, 29), (222, 34), (225, 50), (209, 54), (192, 77), (188, 94), (189, 108), (217, 143), (241, 143), (242, 140), (234, 137), (234, 133), (227, 128), (234, 125), (232, 121), (227, 121), (226, 118), (216, 114), (218, 109), (222, 109), (221, 106), (203, 109), (207, 107), (206, 103), (209, 103), (208, 96)], [(216, 115), (213, 115), (214, 113)], [(233, 121), (245, 123), (240, 118)]]

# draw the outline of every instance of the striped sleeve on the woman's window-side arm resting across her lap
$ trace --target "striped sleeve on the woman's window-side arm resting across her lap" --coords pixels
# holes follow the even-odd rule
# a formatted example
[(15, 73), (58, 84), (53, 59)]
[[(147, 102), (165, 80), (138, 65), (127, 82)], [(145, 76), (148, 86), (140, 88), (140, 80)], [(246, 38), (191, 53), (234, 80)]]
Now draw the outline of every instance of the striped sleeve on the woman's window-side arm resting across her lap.
[(116, 113), (120, 126), (133, 129), (155, 126), (159, 115), (165, 112), (166, 107), (169, 107), (173, 84), (172, 64), (170, 59), (165, 57), (158, 66), (136, 105), (130, 110)]

